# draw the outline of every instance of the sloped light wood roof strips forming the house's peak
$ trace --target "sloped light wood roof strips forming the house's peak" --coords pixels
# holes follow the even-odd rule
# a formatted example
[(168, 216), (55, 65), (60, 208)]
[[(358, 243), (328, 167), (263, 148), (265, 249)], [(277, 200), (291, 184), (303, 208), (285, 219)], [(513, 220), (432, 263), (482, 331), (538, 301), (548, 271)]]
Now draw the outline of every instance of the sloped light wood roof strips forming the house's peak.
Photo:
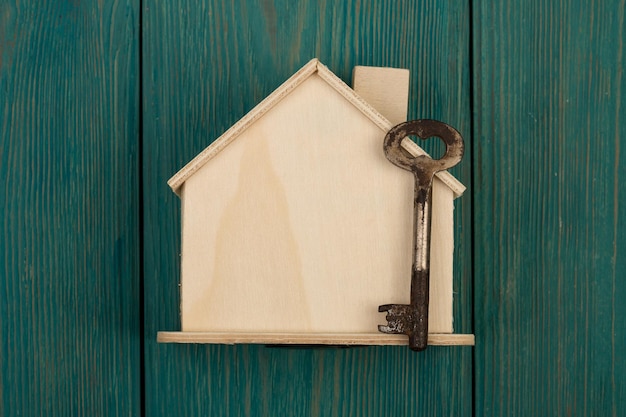
[[(367, 116), (376, 126), (378, 126), (383, 132), (389, 131), (393, 125), (382, 116), (376, 109), (370, 106), (365, 100), (363, 100), (352, 88), (346, 83), (341, 81), (339, 77), (333, 74), (324, 64), (322, 64), (317, 58), (309, 61), (305, 66), (300, 68), (295, 74), (293, 74), (287, 81), (285, 81), (280, 87), (278, 87), (273, 93), (267, 96), (256, 107), (254, 107), (248, 114), (241, 118), (237, 123), (232, 125), (230, 129), (216, 139), (211, 145), (200, 152), (195, 158), (193, 158), (187, 165), (185, 165), (180, 171), (178, 171), (167, 182), (172, 190), (180, 195), (181, 186), (184, 182), (191, 177), (196, 171), (210, 161), (215, 155), (222, 151), (228, 144), (235, 140), (244, 130), (252, 125), (256, 120), (261, 118), (265, 113), (270, 111), (279, 101), (296, 89), (309, 77), (317, 74), (326, 83), (328, 83), (335, 91), (346, 98), (354, 107), (360, 110), (365, 116)], [(413, 155), (424, 155), (426, 152), (415, 144), (412, 140), (406, 138), (402, 142), (402, 146), (412, 153)], [(382, 141), (381, 141), (382, 150)], [(454, 193), (456, 197), (463, 194), (465, 186), (454, 178), (448, 171), (440, 171), (436, 174), (444, 184), (446, 184)]]

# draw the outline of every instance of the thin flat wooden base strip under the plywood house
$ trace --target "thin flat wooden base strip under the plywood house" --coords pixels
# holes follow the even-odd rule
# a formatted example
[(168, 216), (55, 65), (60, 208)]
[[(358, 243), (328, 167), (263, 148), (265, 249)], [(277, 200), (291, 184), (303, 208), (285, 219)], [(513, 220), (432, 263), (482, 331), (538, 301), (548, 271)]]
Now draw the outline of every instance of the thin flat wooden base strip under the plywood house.
[[(285, 344), (285, 345), (408, 345), (404, 335), (381, 335), (379, 333), (211, 333), (211, 332), (159, 332), (159, 343), (207, 343), (207, 344)], [(431, 346), (474, 346), (473, 334), (428, 335)]]

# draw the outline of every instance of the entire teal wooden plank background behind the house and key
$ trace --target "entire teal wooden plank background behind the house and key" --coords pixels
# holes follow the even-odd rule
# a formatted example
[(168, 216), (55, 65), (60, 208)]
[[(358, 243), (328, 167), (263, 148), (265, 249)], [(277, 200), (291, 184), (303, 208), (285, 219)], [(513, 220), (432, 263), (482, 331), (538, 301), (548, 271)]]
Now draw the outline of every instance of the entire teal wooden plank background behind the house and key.
[[(482, 3), (482, 4), (481, 4)], [(520, 2), (521, 3), (521, 2)], [(0, 415), (626, 414), (624, 0), (0, 3)], [(166, 180), (317, 56), (456, 126), (476, 348), (159, 345)]]

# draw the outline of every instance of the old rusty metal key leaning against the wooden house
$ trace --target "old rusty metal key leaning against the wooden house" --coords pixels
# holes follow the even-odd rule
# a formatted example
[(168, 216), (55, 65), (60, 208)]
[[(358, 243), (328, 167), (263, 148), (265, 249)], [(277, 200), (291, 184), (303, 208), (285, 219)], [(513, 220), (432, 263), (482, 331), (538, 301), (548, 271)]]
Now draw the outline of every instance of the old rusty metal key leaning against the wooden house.
[[(427, 155), (413, 156), (401, 145), (402, 140), (416, 135), (420, 139), (432, 136), (446, 144), (441, 159)], [(433, 176), (458, 164), (463, 157), (463, 138), (453, 127), (436, 120), (414, 120), (394, 126), (385, 136), (385, 156), (394, 165), (411, 171), (415, 176), (413, 209), (413, 267), (411, 271), (411, 304), (385, 304), (379, 312), (387, 312), (387, 325), (378, 326), (383, 333), (406, 334), (409, 347), (420, 351), (428, 345), (428, 290), (430, 285), (430, 200)]]

